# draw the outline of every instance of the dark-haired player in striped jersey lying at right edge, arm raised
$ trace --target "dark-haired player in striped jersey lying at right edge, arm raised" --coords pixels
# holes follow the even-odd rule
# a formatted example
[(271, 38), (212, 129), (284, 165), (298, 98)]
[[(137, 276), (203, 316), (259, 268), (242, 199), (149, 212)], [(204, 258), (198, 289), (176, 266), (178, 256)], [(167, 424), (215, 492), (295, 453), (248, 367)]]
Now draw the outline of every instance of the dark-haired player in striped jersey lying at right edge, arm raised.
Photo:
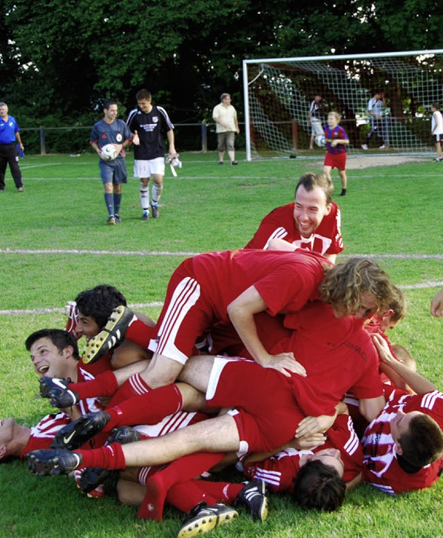
[(390, 494), (430, 487), (443, 469), (443, 393), (397, 361), (375, 334), (383, 368), (394, 370), (417, 394), (392, 388), (363, 436), (363, 481)]

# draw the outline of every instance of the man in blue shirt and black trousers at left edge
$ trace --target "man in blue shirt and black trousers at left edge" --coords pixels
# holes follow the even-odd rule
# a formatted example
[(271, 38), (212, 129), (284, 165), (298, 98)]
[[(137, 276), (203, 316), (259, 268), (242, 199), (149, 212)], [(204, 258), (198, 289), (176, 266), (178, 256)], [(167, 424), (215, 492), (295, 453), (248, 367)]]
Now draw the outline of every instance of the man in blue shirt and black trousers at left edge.
[(23, 192), (16, 144), (21, 151), (24, 150), (24, 145), (21, 143), (19, 131), (17, 120), (8, 115), (8, 105), (6, 102), (0, 102), (0, 191), (5, 190), (6, 165), (9, 163), (15, 186), (19, 192)]

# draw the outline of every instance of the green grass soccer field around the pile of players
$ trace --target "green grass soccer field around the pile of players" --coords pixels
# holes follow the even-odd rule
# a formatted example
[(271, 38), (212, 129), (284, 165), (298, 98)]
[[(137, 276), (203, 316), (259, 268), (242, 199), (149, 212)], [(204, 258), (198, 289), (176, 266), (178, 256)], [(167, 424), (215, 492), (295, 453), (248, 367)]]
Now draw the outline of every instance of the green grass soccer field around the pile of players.
[[(26, 156), (25, 192), (16, 192), (9, 175), (0, 192), (0, 418), (13, 415), (31, 425), (53, 409), (36, 397), (24, 340), (39, 328), (62, 328), (67, 301), (109, 283), (156, 318), (179, 262), (190, 253), (246, 244), (269, 210), (291, 201), (296, 178), (321, 169), (318, 156), (221, 167), (215, 154), (182, 154), (179, 177), (167, 172), (160, 219), (141, 221), (138, 181), (129, 179), (123, 223), (114, 227), (105, 224), (95, 156)], [(131, 177), (130, 155), (128, 170)], [(419, 370), (443, 388), (443, 321), (428, 312), (443, 285), (442, 165), (430, 159), (348, 175), (347, 196), (336, 197), (345, 255), (374, 257), (403, 287), (409, 312), (391, 340), (406, 346)], [(336, 177), (334, 183), (340, 192)], [(4, 537), (163, 538), (175, 536), (182, 519), (168, 508), (161, 523), (139, 521), (134, 508), (87, 499), (66, 477), (37, 478), (19, 462), (0, 465), (0, 483)], [(399, 498), (359, 485), (335, 514), (301, 512), (273, 496), (265, 523), (242, 513), (211, 536), (437, 538), (443, 537), (442, 501), (442, 483)]]

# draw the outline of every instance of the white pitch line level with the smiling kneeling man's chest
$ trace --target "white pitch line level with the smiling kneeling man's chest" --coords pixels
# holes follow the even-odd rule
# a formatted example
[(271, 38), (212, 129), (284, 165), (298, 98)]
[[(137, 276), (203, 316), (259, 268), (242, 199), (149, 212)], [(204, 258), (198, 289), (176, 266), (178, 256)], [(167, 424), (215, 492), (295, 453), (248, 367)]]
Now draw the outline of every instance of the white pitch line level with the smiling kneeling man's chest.
[[(200, 252), (170, 251), (95, 251), (89, 249), (0, 249), (0, 254), (91, 254), (118, 256), (195, 256)], [(399, 260), (443, 260), (443, 254), (338, 254), (339, 257), (381, 258)]]

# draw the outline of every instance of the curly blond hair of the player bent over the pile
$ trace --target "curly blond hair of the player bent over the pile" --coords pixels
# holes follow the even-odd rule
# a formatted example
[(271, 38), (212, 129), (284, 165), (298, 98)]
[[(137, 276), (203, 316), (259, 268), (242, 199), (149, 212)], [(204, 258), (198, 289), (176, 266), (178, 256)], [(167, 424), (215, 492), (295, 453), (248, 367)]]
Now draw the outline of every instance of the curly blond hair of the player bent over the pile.
[(373, 314), (387, 310), (394, 296), (389, 275), (367, 258), (349, 258), (326, 269), (318, 291), (320, 297), (341, 316), (356, 314), (361, 309), (362, 294), (375, 299)]

